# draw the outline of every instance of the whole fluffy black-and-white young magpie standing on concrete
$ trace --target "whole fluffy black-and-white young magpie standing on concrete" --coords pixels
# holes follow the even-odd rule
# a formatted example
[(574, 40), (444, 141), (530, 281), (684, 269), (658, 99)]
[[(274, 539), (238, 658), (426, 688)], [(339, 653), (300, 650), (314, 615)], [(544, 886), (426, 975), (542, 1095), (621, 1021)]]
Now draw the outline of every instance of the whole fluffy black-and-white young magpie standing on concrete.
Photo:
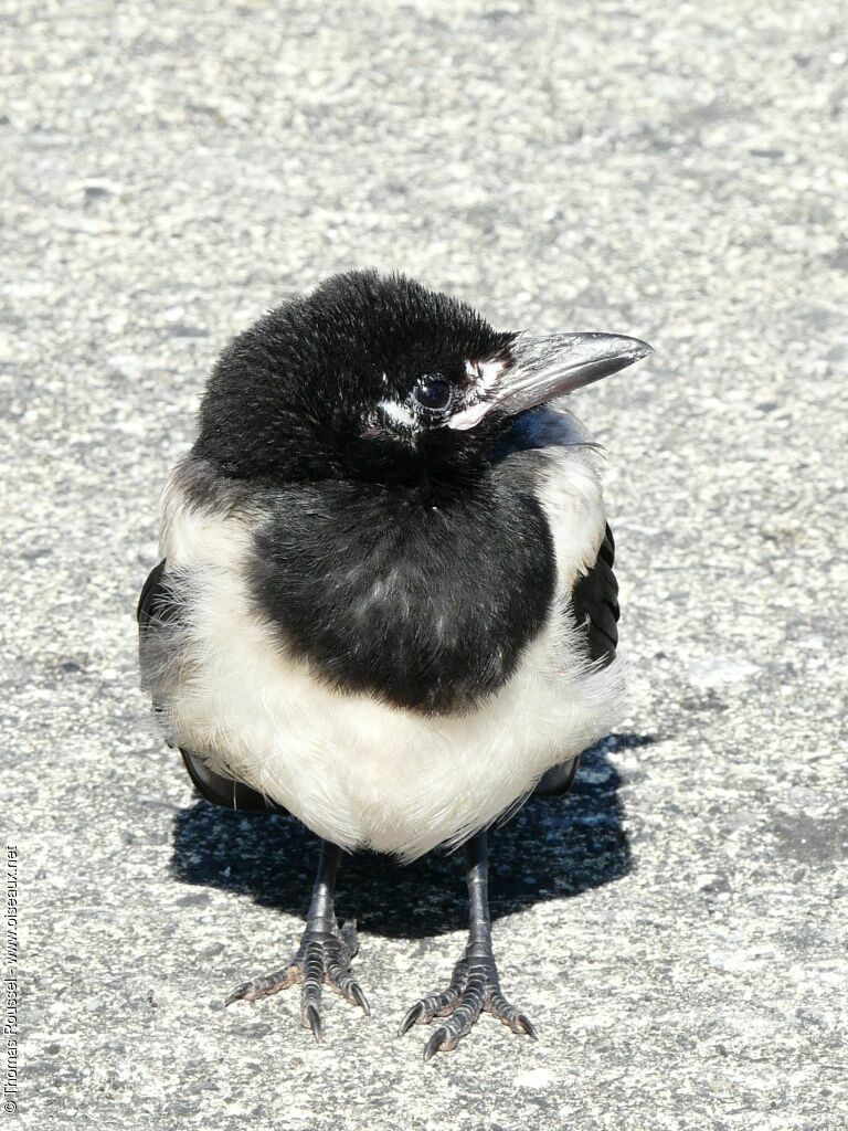
[(399, 274), (355, 270), (260, 318), (209, 377), (163, 497), (138, 606), (142, 688), (208, 801), (293, 814), (320, 838), (300, 947), (237, 986), (301, 986), (366, 1015), (344, 853), (464, 846), (468, 943), (436, 1019), (483, 1011), (536, 1038), (501, 991), (487, 830), (564, 794), (615, 725), (623, 681), (614, 542), (596, 446), (561, 398), (624, 369), (638, 338), (496, 331)]

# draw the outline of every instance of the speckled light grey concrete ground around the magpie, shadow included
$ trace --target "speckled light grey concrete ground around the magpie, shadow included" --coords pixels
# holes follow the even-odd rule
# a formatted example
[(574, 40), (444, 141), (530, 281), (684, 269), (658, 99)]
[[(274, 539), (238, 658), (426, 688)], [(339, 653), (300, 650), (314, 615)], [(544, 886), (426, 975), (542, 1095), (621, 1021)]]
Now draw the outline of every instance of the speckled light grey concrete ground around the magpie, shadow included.
[[(843, 1129), (845, 6), (12, 5), (2, 752), (21, 851), (20, 1125)], [(313, 867), (198, 803), (146, 720), (133, 604), (205, 373), (266, 305), (400, 267), (502, 326), (652, 363), (609, 449), (631, 707), (494, 848), (504, 987), (431, 1065), (455, 857), (358, 861), (373, 1017), (283, 994)], [(9, 1116), (9, 1125), (14, 1117)]]

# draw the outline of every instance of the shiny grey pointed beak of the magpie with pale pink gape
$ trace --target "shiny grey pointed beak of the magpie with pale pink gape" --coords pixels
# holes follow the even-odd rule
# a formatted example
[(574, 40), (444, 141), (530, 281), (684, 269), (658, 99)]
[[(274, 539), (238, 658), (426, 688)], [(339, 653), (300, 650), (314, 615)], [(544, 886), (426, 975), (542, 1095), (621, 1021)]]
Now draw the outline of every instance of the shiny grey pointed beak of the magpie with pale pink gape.
[(478, 400), (448, 426), (474, 428), (493, 408), (514, 416), (617, 373), (652, 353), (647, 342), (620, 334), (517, 334), (507, 355), (479, 366)]

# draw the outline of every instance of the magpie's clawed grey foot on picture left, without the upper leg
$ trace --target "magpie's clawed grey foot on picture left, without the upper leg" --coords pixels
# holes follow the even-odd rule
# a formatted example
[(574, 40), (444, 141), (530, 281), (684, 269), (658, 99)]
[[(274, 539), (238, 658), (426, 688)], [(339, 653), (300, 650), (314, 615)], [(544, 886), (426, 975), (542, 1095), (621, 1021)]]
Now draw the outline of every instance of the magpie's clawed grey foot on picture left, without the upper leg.
[(352, 1005), (358, 1005), (366, 1017), (371, 1016), (362, 986), (351, 974), (351, 961), (358, 949), (356, 924), (353, 921), (348, 921), (340, 931), (336, 929), (332, 933), (315, 931), (308, 926), (303, 932), (297, 953), (288, 966), (263, 977), (243, 982), (227, 994), (224, 1004), (268, 998), (300, 983), (301, 1020), (305, 1028), (312, 1030), (315, 1041), (322, 1041), (321, 991), (325, 983), (332, 986)]

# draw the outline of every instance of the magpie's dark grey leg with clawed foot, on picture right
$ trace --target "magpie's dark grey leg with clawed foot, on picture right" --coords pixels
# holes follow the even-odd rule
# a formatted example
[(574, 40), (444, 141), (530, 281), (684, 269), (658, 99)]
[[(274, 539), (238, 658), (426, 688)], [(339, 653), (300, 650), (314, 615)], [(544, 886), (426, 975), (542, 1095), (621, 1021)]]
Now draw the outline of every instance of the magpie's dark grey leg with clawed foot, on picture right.
[(444, 1017), (424, 1048), (427, 1061), (438, 1052), (456, 1048), (485, 1010), (508, 1025), (513, 1033), (536, 1039), (528, 1017), (511, 1005), (501, 993), (501, 982), (492, 953), (492, 921), (488, 914), (488, 861), (486, 834), (478, 832), (465, 846), (465, 870), (470, 903), (470, 927), (465, 955), (453, 967), (447, 990), (417, 1001), (400, 1024), (403, 1036), (413, 1025), (425, 1025)]

